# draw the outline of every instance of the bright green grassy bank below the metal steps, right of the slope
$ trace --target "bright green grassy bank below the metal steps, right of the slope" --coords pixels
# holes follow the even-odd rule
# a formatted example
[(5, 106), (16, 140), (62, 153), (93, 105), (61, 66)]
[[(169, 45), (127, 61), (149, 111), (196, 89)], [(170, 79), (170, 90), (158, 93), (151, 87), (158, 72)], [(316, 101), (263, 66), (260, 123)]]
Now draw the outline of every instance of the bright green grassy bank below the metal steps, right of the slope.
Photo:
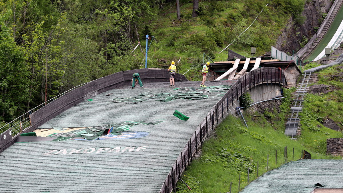
[[(247, 172), (250, 168), (250, 181), (269, 170), (279, 167), (286, 161), (301, 158), (301, 150), (310, 152), (312, 159), (342, 159), (340, 156), (326, 155), (326, 139), (342, 138), (342, 132), (323, 126), (323, 121), (331, 118), (342, 128), (343, 65), (320, 71), (316, 84), (335, 87), (327, 94), (308, 94), (301, 115), (301, 135), (291, 140), (284, 135), (285, 120), (291, 105), (295, 88), (284, 89), (280, 108), (265, 109), (263, 113), (245, 112), (249, 128), (236, 116), (230, 115), (216, 129), (202, 147), (202, 156), (194, 160), (184, 172), (182, 180), (190, 185), (192, 192), (228, 192), (233, 182), (232, 192), (238, 192), (238, 179), (241, 174), (240, 188), (247, 185)], [(287, 160), (284, 147), (287, 146)], [(294, 157), (293, 157), (294, 148)], [(277, 162), (275, 153), (277, 150)], [(177, 192), (190, 192), (182, 182), (177, 184)]]

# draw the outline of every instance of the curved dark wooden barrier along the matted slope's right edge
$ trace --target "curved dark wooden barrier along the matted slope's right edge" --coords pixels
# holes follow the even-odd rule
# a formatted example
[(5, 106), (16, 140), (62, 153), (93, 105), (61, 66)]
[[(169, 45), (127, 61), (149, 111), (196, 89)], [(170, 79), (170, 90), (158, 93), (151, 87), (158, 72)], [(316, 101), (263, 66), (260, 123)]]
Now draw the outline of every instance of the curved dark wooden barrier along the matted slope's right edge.
[(168, 177), (162, 185), (160, 193), (170, 193), (176, 188), (176, 182), (181, 177), (182, 172), (189, 166), (193, 155), (203, 144), (203, 141), (210, 135), (214, 128), (220, 124), (229, 114), (229, 108), (234, 105), (239, 97), (247, 90), (260, 84), (271, 83), (287, 86), (283, 70), (273, 67), (262, 67), (255, 69), (234, 83), (226, 94), (215, 104), (206, 117), (188, 140), (188, 143), (177, 157)]

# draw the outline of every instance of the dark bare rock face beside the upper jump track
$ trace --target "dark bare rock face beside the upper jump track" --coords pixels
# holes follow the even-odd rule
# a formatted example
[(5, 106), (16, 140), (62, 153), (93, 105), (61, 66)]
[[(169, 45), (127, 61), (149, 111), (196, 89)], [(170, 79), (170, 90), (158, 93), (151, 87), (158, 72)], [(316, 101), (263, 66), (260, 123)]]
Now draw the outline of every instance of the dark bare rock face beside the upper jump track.
[[(288, 20), (286, 28), (276, 41), (275, 47), (285, 53), (291, 53), (292, 50), (297, 52), (303, 43), (306, 44), (307, 40), (316, 33), (314, 27), (319, 27), (324, 20), (323, 14), (328, 13), (332, 5), (331, 0), (311, 0), (306, 1), (305, 8), (302, 16), (305, 21), (302, 25), (297, 24), (294, 18)], [(305, 42), (305, 43), (304, 43)]]

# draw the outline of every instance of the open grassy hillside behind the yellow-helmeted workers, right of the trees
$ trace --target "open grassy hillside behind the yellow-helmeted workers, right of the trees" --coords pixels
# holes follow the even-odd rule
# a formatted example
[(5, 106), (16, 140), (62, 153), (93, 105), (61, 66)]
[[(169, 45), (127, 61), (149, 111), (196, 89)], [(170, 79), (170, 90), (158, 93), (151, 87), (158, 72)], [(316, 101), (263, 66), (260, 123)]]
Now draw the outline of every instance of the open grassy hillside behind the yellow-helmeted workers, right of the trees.
[[(176, 5), (166, 4), (148, 26), (149, 34), (156, 37), (155, 44), (151, 46), (155, 48), (154, 53), (149, 54), (159, 61), (158, 64), (170, 64), (171, 60), (181, 57), (178, 70), (185, 73), (191, 66), (202, 63), (203, 53), (214, 61), (226, 61), (227, 52), (218, 53), (233, 41), (229, 49), (247, 57), (250, 56), (250, 47), (257, 48), (256, 55), (270, 52), (270, 47), (291, 16), (289, 13), (292, 11), (287, 6), (295, 2), (289, 1), (285, 5), (278, 1), (265, 7), (269, 2), (201, 1), (198, 17), (192, 18), (192, 3), (181, 1), (181, 20), (176, 18)], [(304, 2), (296, 2), (301, 3)], [(293, 8), (302, 10), (301, 6)], [(238, 38), (257, 16), (253, 25)], [(200, 80), (199, 68), (189, 71), (186, 77)]]

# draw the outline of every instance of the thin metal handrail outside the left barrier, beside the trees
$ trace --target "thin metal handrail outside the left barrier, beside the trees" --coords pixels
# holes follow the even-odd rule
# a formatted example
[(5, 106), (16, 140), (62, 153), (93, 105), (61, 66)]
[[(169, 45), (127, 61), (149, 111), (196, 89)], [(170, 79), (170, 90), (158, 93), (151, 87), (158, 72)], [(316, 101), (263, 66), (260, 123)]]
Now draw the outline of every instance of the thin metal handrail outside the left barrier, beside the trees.
[[(93, 80), (92, 80), (92, 81), (93, 81)], [(76, 87), (74, 87), (74, 88), (71, 88), (71, 89), (67, 90), (66, 92), (63, 92), (63, 93), (61, 93), (61, 94), (55, 96), (54, 98), (49, 99), (48, 101), (46, 101), (46, 102), (44, 102), (44, 103), (42, 103), (42, 104), (40, 104), (40, 105), (34, 107), (33, 109), (31, 109), (31, 110), (27, 111), (26, 113), (20, 115), (19, 117), (15, 118), (15, 119), (12, 120), (11, 122), (5, 124), (4, 126), (2, 126), (2, 127), (0, 128), (0, 130), (1, 130), (2, 128), (6, 127), (6, 126), (9, 126), (9, 128), (8, 128), (7, 130), (11, 129), (12, 133), (14, 133), (14, 134), (15, 134), (16, 132), (18, 132), (19, 129), (20, 129), (21, 131), (24, 130), (26, 127), (24, 128), (23, 125), (20, 126), (20, 124), (22, 124), (22, 121), (26, 121), (26, 120), (29, 118), (29, 115), (30, 115), (31, 113), (33, 113), (33, 110), (35, 110), (35, 109), (37, 109), (37, 108), (40, 109), (40, 108), (42, 108), (43, 106), (47, 105), (47, 103), (50, 103), (51, 101), (53, 101), (53, 100), (55, 100), (56, 98), (58, 98), (59, 96), (61, 96), (61, 95), (63, 95), (63, 94), (66, 94), (66, 93), (68, 93), (68, 92), (70, 92), (70, 91), (72, 91), (72, 90), (74, 90), (74, 89), (76, 89), (76, 88), (79, 88), (79, 87), (81, 87), (81, 86), (83, 86), (83, 85), (85, 85), (85, 84), (87, 84), (87, 83), (90, 83), (90, 82), (92, 82), (92, 81), (89, 81), (89, 82), (80, 84), (80, 85), (78, 85), (78, 86), (76, 86)], [(45, 104), (45, 105), (44, 105), (44, 104)], [(37, 109), (37, 110), (38, 110), (38, 109)], [(27, 116), (26, 118), (24, 118), (25, 115), (28, 115), (28, 116)], [(19, 121), (19, 122), (15, 123), (15, 121)], [(24, 122), (24, 123), (27, 123), (27, 122), (28, 122), (28, 121), (26, 121), (26, 122)], [(10, 126), (10, 124), (12, 124), (12, 123), (14, 123), (14, 125)], [(18, 124), (19, 124), (19, 125), (18, 125)], [(29, 125), (31, 125), (31, 123), (30, 123)], [(25, 126), (27, 126), (27, 124), (26, 124)], [(24, 128), (24, 129), (23, 129), (23, 128)], [(7, 130), (5, 130), (4, 132), (2, 132), (1, 135), (2, 135), (3, 133), (5, 133)]]

